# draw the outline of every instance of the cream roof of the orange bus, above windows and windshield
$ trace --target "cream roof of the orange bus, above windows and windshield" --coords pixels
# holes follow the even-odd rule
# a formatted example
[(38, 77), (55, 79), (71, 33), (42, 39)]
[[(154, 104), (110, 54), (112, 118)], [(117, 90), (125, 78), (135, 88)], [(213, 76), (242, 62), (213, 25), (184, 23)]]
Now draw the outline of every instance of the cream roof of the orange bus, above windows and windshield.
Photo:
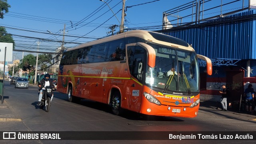
[[(154, 36), (152, 36), (152, 35), (154, 35)], [(166, 42), (166, 41), (162, 40), (161, 38), (156, 38), (157, 37), (156, 35), (165, 36), (165, 37), (168, 36), (168, 39), (171, 41), (171, 44), (170, 44), (170, 42)], [(176, 48), (181, 48), (181, 49), (194, 51), (194, 49), (187, 42), (185, 42), (184, 40), (181, 40), (181, 39), (178, 39), (178, 38), (175, 38), (173, 36), (166, 35), (166, 34), (161, 34), (161, 33), (158, 33), (158, 32), (152, 32), (152, 31), (147, 31), (147, 30), (131, 30), (131, 31), (123, 32), (121, 34), (116, 34), (116, 35), (109, 36), (109, 37), (106, 37), (106, 38), (102, 38), (102, 39), (99, 39), (99, 40), (94, 40), (94, 41), (91, 41), (91, 42), (80, 44), (79, 46), (76, 46), (74, 48), (69, 48), (66, 51), (75, 50), (75, 49), (78, 49), (78, 48), (83, 48), (83, 47), (86, 47), (86, 46), (91, 46), (91, 45), (94, 45), (94, 44), (100, 44), (100, 43), (104, 43), (104, 42), (108, 42), (108, 41), (112, 41), (112, 40), (118, 40), (120, 38), (131, 37), (131, 36), (139, 37), (139, 38), (142, 38), (144, 40), (154, 42), (154, 43), (158, 43), (158, 44), (163, 44), (163, 45), (166, 45), (166, 46), (174, 46)]]

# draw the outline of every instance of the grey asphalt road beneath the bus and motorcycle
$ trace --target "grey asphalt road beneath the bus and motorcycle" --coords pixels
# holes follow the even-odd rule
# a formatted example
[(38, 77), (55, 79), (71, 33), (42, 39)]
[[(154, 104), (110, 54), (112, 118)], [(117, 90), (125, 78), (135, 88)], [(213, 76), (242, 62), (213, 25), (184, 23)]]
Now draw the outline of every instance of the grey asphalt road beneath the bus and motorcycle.
[[(37, 86), (28, 89), (14, 88), (8, 81), (4, 86), (4, 100), (11, 108), (10, 117), (21, 118), (21, 122), (0, 122), (1, 131), (86, 131), (86, 132), (154, 132), (197, 131), (230, 132), (255, 131), (256, 116), (224, 112), (207, 104), (201, 104), (196, 118), (174, 118), (146, 116), (126, 111), (122, 116), (113, 115), (106, 104), (90, 100), (79, 103), (68, 102), (67, 95), (54, 91), (50, 112), (36, 106)], [(203, 106), (204, 105), (204, 106)], [(4, 112), (3, 109), (0, 111)], [(128, 134), (131, 134), (128, 133)], [(85, 133), (86, 134), (86, 133)], [(110, 133), (111, 134), (111, 133)], [(78, 134), (79, 135), (79, 134)], [(117, 134), (118, 135), (118, 134)], [(101, 135), (99, 135), (101, 136)], [(82, 136), (81, 136), (82, 137)], [(99, 138), (100, 139), (100, 138)], [(115, 139), (115, 138), (113, 138)], [(118, 139), (118, 138), (116, 138)], [(8, 143), (255, 143), (256, 140), (2, 140)], [(2, 143), (1, 142), (1, 143)]]

